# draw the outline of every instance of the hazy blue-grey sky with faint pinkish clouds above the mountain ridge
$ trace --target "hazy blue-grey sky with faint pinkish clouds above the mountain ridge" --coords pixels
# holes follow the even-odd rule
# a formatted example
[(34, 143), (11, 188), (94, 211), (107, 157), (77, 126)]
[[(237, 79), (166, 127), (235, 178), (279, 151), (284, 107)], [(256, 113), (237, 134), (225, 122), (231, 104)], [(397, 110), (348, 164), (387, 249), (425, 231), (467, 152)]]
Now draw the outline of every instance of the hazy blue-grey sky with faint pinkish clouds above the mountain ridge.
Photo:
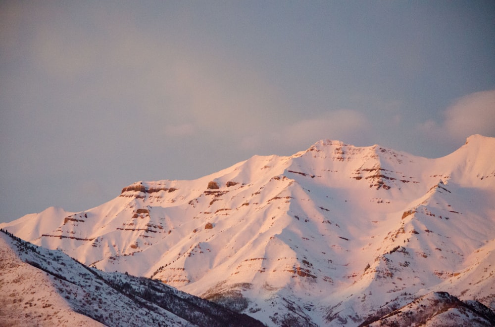
[(321, 139), (495, 137), (494, 1), (0, 1), (0, 222)]

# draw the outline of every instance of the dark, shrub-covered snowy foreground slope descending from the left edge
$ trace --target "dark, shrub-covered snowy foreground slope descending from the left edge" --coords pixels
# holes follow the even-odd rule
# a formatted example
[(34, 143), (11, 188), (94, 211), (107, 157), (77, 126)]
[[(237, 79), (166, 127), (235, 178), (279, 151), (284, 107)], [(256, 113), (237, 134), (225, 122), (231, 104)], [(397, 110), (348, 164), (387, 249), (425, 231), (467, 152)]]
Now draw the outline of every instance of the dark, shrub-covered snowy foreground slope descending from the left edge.
[(0, 255), (1, 326), (263, 326), (160, 282), (90, 269), (4, 233)]

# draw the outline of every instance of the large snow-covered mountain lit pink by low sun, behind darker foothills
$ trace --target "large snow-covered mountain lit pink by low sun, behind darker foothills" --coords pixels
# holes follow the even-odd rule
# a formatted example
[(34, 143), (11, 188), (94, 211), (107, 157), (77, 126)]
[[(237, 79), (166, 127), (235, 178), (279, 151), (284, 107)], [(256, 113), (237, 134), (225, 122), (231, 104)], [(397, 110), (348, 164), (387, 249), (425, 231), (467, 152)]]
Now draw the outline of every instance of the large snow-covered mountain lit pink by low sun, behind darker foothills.
[(441, 292), (494, 310), (493, 158), (481, 135), (438, 159), (325, 140), (0, 227), (268, 326), (358, 326)]

